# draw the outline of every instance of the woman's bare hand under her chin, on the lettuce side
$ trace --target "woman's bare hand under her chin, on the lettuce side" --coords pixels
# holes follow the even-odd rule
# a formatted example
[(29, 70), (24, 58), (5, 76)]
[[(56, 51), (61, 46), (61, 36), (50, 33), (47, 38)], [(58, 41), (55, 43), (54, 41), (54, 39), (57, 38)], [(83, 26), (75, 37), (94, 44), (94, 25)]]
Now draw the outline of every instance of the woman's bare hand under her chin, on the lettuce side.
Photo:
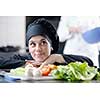
[(52, 54), (41, 64), (39, 69), (41, 69), (44, 65), (53, 64), (55, 62), (65, 63), (65, 60), (61, 54)]

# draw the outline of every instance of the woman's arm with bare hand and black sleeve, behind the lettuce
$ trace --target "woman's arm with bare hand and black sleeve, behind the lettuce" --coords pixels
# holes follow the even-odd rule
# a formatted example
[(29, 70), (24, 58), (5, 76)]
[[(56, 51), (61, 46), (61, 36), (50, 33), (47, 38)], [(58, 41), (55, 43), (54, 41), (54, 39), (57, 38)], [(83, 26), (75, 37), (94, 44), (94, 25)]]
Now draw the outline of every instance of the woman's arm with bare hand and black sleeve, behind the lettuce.
[(44, 65), (47, 65), (47, 64), (54, 64), (54, 63), (68, 64), (70, 62), (75, 62), (75, 61), (87, 62), (89, 66), (93, 66), (92, 60), (89, 59), (88, 57), (85, 57), (85, 56), (52, 54), (51, 56), (49, 56), (42, 63), (42, 65), (40, 66), (40, 68), (43, 67)]

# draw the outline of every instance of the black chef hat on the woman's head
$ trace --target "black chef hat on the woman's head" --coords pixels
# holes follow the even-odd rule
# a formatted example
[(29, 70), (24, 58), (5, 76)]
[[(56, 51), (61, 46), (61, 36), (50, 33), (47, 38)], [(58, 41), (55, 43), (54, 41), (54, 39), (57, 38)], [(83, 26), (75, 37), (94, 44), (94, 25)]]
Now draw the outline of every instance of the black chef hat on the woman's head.
[(56, 53), (59, 48), (59, 37), (54, 26), (44, 18), (35, 20), (28, 26), (26, 33), (27, 44), (32, 36), (42, 35), (48, 37), (53, 47), (52, 53)]

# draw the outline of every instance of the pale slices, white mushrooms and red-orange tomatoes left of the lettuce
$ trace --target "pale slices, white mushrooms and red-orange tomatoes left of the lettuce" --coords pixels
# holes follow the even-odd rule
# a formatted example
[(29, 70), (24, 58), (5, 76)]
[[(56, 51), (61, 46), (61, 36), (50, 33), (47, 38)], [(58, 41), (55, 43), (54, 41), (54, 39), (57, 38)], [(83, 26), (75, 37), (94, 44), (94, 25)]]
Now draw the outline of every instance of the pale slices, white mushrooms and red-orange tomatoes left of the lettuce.
[(48, 76), (50, 72), (56, 68), (57, 68), (56, 65), (48, 64), (39, 69), (37, 67), (34, 67), (33, 64), (27, 63), (25, 67), (11, 69), (10, 73), (18, 76), (39, 77), (39, 76)]

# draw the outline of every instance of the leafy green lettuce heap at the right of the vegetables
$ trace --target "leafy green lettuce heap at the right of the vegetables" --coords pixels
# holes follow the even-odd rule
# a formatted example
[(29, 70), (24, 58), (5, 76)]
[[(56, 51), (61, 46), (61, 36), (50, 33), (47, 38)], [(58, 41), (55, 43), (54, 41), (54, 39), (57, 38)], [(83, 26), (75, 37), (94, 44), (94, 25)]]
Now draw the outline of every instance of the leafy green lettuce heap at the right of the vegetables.
[(86, 62), (71, 62), (68, 65), (59, 65), (51, 74), (56, 79), (67, 81), (92, 80), (98, 73), (97, 68), (90, 67)]

